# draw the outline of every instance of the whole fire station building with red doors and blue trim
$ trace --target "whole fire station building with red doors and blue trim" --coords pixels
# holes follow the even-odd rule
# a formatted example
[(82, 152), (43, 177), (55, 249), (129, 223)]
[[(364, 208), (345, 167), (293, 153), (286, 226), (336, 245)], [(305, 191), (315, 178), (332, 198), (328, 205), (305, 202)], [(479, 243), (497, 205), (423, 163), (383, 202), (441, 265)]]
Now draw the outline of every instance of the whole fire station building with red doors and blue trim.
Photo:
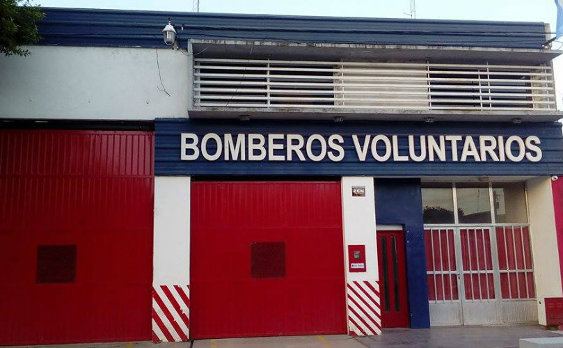
[(546, 24), (43, 10), (0, 345), (554, 324)]

